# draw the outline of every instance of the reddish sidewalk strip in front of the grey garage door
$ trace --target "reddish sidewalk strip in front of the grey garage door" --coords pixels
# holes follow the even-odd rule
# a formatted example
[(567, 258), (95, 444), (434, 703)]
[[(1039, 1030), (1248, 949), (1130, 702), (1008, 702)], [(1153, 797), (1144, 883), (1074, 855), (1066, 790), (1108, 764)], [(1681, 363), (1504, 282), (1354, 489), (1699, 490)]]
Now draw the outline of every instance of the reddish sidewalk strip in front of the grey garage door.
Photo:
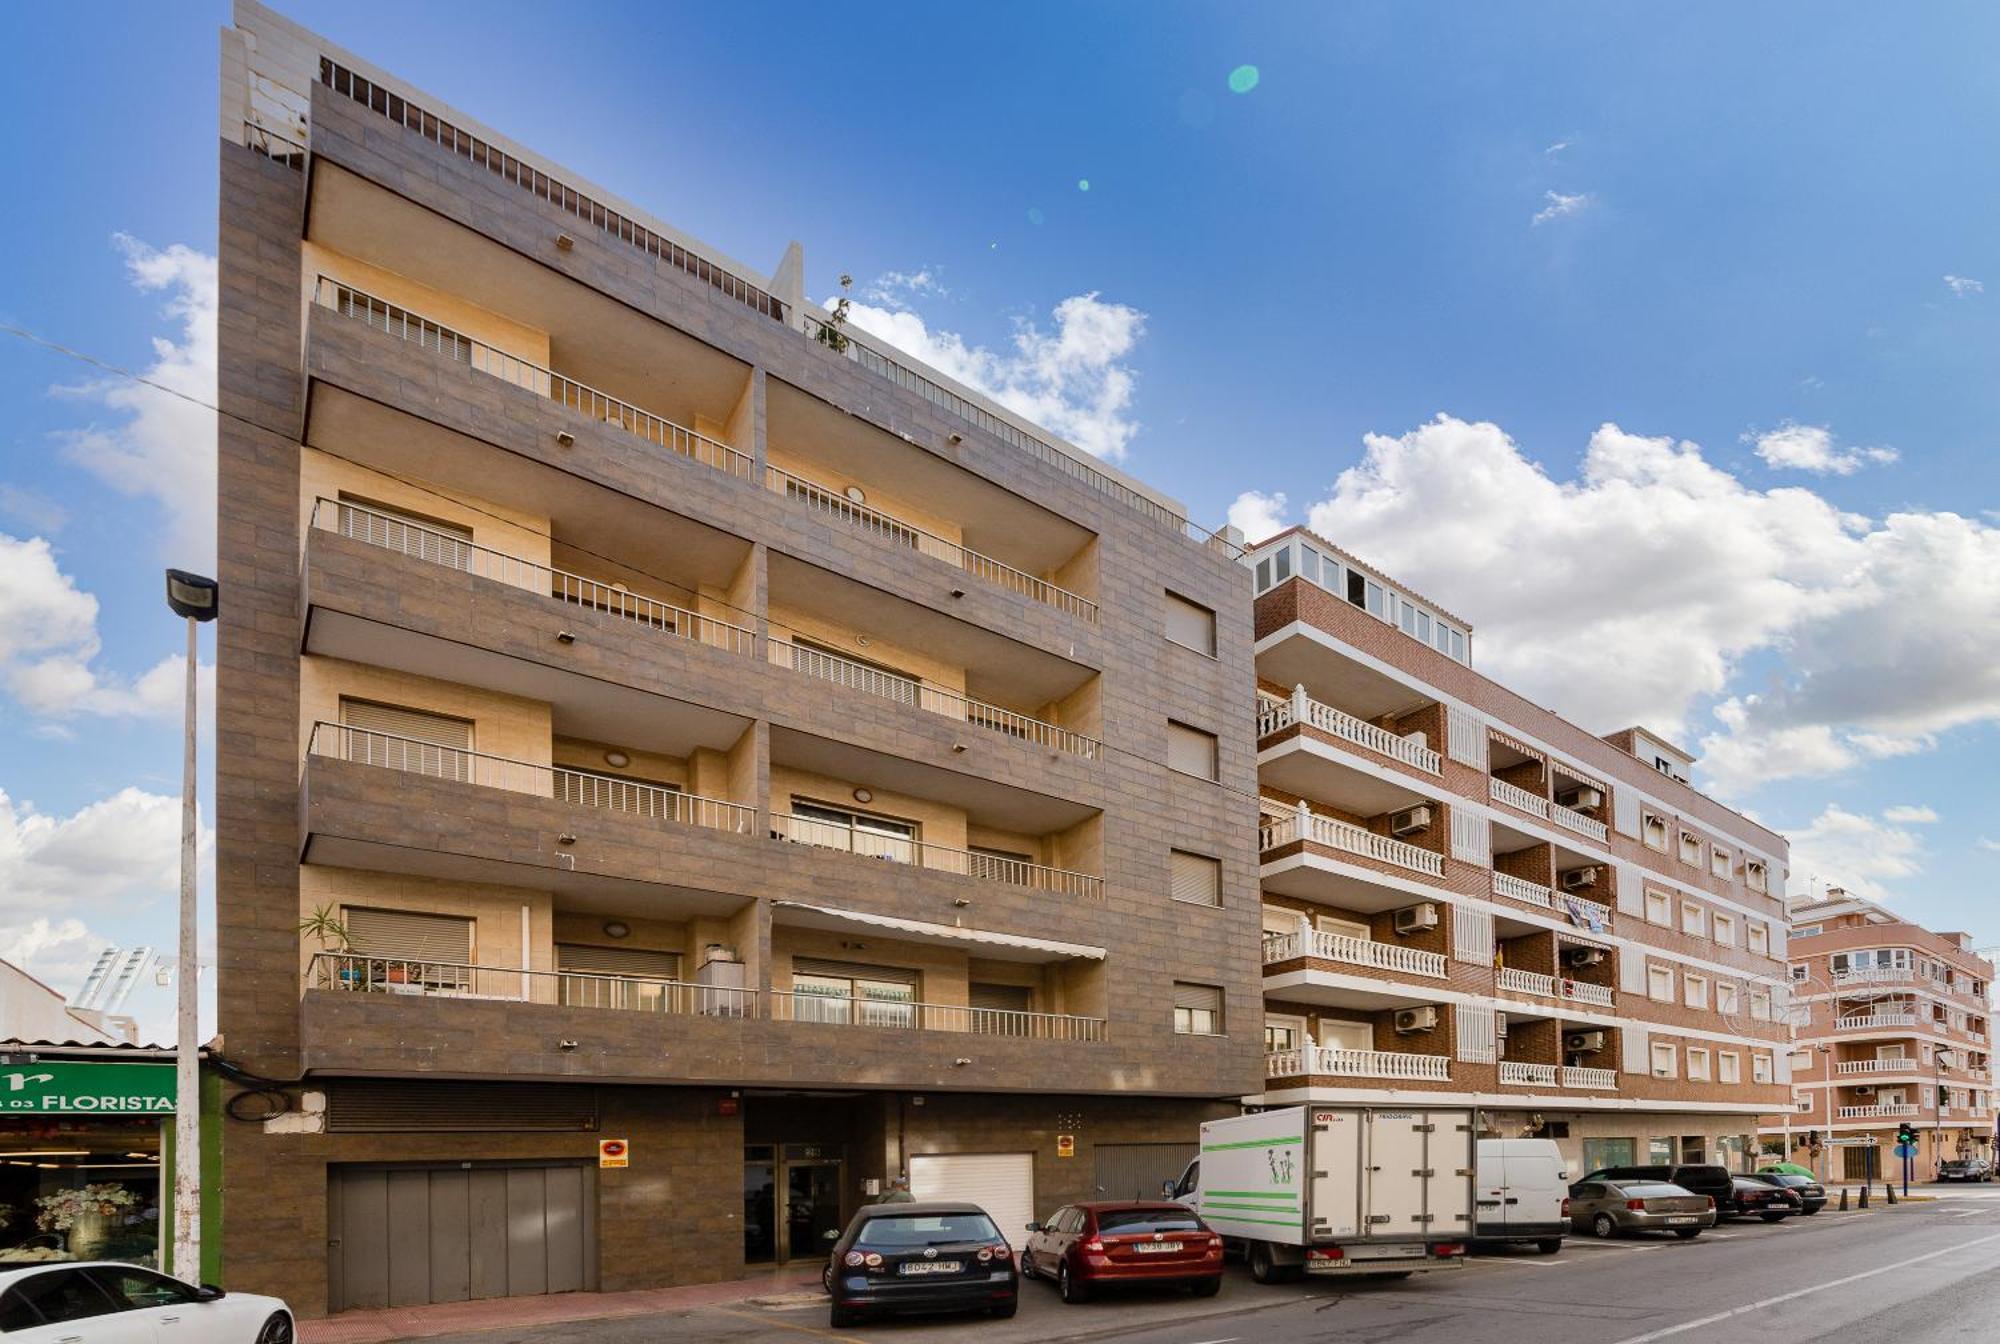
[(816, 1274), (796, 1266), (690, 1288), (644, 1288), (638, 1292), (562, 1292), (546, 1298), (486, 1298), (482, 1302), (440, 1302), (436, 1306), (392, 1306), (374, 1312), (340, 1312), (326, 1320), (298, 1322), (300, 1344), (390, 1344), (464, 1330), (504, 1330), (548, 1326), (566, 1320), (606, 1316), (648, 1316), (718, 1302), (744, 1302), (782, 1292), (820, 1290)]

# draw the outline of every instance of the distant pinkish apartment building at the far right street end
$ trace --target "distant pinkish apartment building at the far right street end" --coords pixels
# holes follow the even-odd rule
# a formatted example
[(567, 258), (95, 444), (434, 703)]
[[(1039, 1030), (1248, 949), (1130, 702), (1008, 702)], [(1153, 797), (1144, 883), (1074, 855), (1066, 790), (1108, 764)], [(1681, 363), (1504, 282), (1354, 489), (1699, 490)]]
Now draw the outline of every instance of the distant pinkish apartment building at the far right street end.
[(1828, 888), (1792, 902), (1796, 1046), (1792, 1110), (1764, 1144), (1828, 1180), (1902, 1170), (1896, 1132), (1916, 1130), (1914, 1174), (1994, 1158), (1992, 962), (1968, 934), (1934, 934)]

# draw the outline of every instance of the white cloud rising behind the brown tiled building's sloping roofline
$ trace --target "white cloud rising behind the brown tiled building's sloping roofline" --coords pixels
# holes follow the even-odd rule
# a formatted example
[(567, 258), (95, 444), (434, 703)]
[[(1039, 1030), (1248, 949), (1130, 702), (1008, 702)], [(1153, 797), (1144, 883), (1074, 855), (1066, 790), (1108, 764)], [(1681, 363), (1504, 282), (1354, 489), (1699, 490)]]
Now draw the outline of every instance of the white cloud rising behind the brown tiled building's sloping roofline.
[(932, 368), (984, 392), (1008, 410), (1050, 428), (1084, 452), (1120, 460), (1138, 434), (1132, 420), (1134, 374), (1126, 358), (1146, 332), (1146, 314), (1072, 294), (1054, 308), (1056, 328), (1018, 322), (1012, 350), (968, 346), (956, 332), (934, 332), (916, 312), (856, 302), (856, 328), (900, 346)]

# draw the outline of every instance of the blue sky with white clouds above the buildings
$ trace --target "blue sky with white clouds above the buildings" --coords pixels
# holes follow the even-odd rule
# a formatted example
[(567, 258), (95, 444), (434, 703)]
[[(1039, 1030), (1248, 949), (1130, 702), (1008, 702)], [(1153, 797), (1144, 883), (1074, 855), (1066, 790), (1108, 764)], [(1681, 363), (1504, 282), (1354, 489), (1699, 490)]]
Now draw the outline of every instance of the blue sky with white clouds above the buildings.
[[(1802, 872), (2000, 944), (1990, 6), (282, 8), (750, 266), (798, 238), (864, 324), (1200, 520), (1318, 522), (1488, 672), (1702, 746)], [(226, 20), (16, 16), (0, 320), (198, 388)], [(196, 412), (4, 342), (0, 944), (60, 980), (170, 930), (158, 570), (208, 562), (208, 468)]]

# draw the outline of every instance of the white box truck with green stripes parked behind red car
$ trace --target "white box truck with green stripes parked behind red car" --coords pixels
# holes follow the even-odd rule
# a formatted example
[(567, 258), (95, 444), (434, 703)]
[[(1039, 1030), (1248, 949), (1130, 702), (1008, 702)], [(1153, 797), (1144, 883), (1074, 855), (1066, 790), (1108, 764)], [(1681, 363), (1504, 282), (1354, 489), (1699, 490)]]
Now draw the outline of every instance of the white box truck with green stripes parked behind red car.
[(1174, 1188), (1260, 1284), (1458, 1268), (1478, 1170), (1470, 1108), (1286, 1106), (1210, 1120)]

